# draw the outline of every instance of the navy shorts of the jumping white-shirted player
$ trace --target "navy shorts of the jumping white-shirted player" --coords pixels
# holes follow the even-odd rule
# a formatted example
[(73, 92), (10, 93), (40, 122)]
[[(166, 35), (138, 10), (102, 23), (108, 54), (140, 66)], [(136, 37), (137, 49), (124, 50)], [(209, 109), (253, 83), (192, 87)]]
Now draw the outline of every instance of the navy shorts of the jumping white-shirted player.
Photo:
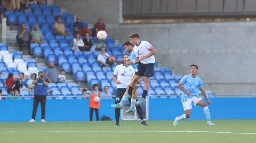
[(135, 75), (137, 76), (145, 76), (145, 77), (153, 77), (155, 72), (155, 63), (142, 64), (139, 63)]

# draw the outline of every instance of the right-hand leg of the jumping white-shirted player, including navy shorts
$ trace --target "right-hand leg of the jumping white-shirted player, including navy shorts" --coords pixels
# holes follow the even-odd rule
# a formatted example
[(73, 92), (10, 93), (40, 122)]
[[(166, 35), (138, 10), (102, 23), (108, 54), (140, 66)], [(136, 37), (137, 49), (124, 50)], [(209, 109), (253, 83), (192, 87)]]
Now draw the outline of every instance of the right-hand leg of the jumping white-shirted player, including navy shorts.
[[(154, 72), (155, 72), (155, 63), (150, 63), (150, 64), (143, 64), (144, 67), (144, 82), (145, 82), (145, 86), (144, 86), (144, 90), (142, 93), (142, 98), (136, 102), (136, 104), (142, 104), (146, 102), (146, 96), (147, 96), (147, 92), (150, 88), (150, 78), (154, 76)], [(136, 74), (136, 73), (135, 73)]]

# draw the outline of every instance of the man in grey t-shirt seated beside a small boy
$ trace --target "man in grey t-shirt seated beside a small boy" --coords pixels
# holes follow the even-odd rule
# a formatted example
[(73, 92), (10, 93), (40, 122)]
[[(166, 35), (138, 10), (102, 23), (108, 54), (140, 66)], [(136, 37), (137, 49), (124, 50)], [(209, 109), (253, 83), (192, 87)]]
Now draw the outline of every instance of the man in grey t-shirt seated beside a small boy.
[(57, 69), (54, 68), (53, 62), (49, 62), (49, 67), (44, 70), (44, 76), (48, 79), (49, 83), (62, 83), (58, 81)]

